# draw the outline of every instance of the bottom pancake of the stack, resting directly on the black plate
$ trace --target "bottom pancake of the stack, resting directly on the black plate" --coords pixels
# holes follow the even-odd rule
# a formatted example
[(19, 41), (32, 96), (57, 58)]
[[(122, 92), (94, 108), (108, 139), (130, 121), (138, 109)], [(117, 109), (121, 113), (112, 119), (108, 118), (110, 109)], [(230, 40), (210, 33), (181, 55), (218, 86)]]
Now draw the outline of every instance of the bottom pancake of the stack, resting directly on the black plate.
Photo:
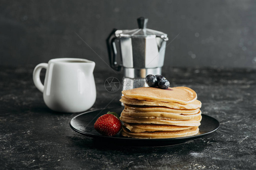
[(132, 133), (129, 129), (122, 127), (121, 134), (132, 138), (175, 138), (196, 135), (199, 132), (198, 127), (179, 131), (145, 131), (139, 133)]

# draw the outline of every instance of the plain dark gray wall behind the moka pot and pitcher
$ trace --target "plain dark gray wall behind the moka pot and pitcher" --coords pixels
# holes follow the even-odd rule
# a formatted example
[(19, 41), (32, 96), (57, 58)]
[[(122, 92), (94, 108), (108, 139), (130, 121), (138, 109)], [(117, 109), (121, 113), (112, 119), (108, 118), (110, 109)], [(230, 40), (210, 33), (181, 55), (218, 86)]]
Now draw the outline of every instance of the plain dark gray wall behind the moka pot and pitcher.
[[(36, 65), (57, 57), (108, 66), (112, 30), (148, 28), (168, 34), (165, 66), (256, 68), (256, 1), (10, 1), (0, 6), (0, 65)], [(76, 33), (77, 34), (76, 34)]]

